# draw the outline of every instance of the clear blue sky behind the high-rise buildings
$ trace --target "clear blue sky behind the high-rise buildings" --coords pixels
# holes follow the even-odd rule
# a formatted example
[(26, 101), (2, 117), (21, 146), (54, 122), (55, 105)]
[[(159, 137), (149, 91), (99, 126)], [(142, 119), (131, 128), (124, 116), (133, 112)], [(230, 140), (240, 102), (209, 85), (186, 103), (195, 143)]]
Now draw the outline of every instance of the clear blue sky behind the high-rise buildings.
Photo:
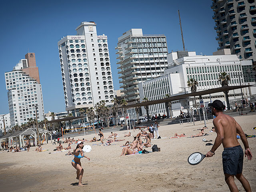
[(45, 112), (65, 110), (57, 42), (75, 35), (82, 21), (94, 21), (98, 35), (108, 36), (114, 89), (119, 89), (115, 46), (131, 28), (144, 34), (165, 34), (168, 52), (183, 50), (178, 9), (185, 47), (197, 54), (216, 51), (211, 0), (26, 0), (5, 1), (0, 7), (1, 67), (0, 114), (8, 113), (4, 72), (9, 72), (28, 52), (35, 52), (42, 84)]

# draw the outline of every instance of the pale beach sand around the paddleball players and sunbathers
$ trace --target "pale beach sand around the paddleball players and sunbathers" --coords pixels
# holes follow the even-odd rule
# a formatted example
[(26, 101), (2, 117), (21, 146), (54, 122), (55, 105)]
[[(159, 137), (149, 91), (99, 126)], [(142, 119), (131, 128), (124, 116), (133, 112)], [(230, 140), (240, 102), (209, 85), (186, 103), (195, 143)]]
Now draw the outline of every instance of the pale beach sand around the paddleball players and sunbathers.
[[(256, 134), (252, 130), (256, 126), (256, 115), (237, 116), (237, 122), (242, 126), (248, 135)], [(198, 138), (187, 138), (197, 134), (199, 128), (204, 126), (202, 122), (196, 122), (195, 126), (184, 123), (160, 126), (161, 137), (152, 140), (152, 144), (157, 144), (161, 148), (160, 152), (150, 154), (138, 154), (121, 156), (122, 144), (125, 141), (114, 142), (110, 146), (93, 145), (100, 142), (85, 143), (92, 146), (92, 151), (86, 153), (91, 160), (82, 158), (84, 176), (82, 184), (77, 186), (76, 170), (71, 165), (73, 156), (65, 156), (65, 152), (54, 153), (57, 146), (45, 144), (42, 148), (48, 149), (45, 152), (37, 153), (35, 147), (30, 152), (2, 152), (0, 153), (0, 186), (1, 191), (19, 192), (73, 192), (76, 190), (91, 192), (191, 192), (193, 190), (204, 192), (228, 191), (228, 186), (224, 181), (222, 170), (222, 151), (220, 146), (212, 158), (205, 158), (200, 164), (191, 166), (187, 159), (193, 152), (206, 154), (212, 146), (206, 146), (202, 142), (215, 140), (216, 133), (210, 132), (212, 120), (207, 122), (209, 129), (205, 132), (209, 136)], [(131, 137), (123, 137), (128, 131), (118, 131), (118, 139), (132, 141)], [(139, 130), (133, 132), (136, 136)], [(186, 137), (172, 138), (174, 133), (185, 133)], [(98, 134), (98, 132), (97, 132)], [(105, 133), (108, 137), (110, 133)], [(76, 138), (86, 138), (90, 140), (92, 135), (78, 136)], [(98, 138), (98, 135), (96, 136)], [(242, 148), (244, 146), (239, 140)], [(256, 189), (256, 138), (248, 138), (252, 151), (251, 161), (244, 158), (243, 174), (250, 182), (252, 191)], [(213, 143), (213, 142), (212, 142)], [(63, 144), (64, 147), (67, 144)], [(72, 145), (72, 150), (76, 145)], [(147, 149), (147, 148), (146, 148)], [(152, 151), (151, 148), (148, 148)], [(51, 152), (51, 154), (49, 154)], [(235, 179), (238, 189), (244, 191), (240, 182)]]

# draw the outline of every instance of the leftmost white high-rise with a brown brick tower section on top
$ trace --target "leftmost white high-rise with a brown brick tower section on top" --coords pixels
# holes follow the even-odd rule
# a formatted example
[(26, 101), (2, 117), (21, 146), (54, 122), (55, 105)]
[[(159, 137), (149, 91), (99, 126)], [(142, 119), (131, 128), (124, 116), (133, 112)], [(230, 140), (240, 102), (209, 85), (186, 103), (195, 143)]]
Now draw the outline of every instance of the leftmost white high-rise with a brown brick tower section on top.
[[(11, 72), (4, 73), (10, 111), (10, 127), (36, 118), (43, 120), (42, 87), (34, 53), (25, 55)], [(37, 105), (37, 109), (36, 106)]]

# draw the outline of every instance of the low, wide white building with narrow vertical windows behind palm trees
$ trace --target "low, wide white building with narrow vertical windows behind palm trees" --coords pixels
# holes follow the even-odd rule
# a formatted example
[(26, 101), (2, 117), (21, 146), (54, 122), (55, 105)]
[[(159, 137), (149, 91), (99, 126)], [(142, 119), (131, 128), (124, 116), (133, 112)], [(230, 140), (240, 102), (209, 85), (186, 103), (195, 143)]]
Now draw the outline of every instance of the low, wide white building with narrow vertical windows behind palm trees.
[[(169, 68), (157, 78), (139, 84), (140, 98), (147, 97), (149, 100), (157, 100), (166, 97), (166, 94), (172, 96), (175, 94), (184, 94), (191, 92), (187, 86), (190, 78), (198, 82), (197, 91), (208, 90), (221, 87), (218, 81), (220, 72), (227, 72), (230, 76), (230, 86), (254, 85), (255, 80), (252, 71), (252, 61), (240, 61), (236, 55), (218, 55), (218, 52), (212, 56), (196, 55), (196, 52), (172, 52), (167, 55)], [(247, 70), (250, 68), (250, 70)], [(240, 79), (240, 80), (239, 80)], [(255, 87), (244, 88), (243, 95), (250, 98), (256, 94)], [(209, 96), (203, 96), (205, 104), (210, 102)], [(224, 93), (211, 94), (211, 99), (218, 98), (224, 103)], [(241, 91), (229, 91), (230, 106), (232, 101), (239, 98), (241, 100)], [(189, 105), (192, 105), (190, 100)], [(173, 116), (178, 116), (180, 110), (187, 112), (186, 100), (172, 102)], [(143, 114), (145, 110), (142, 108)], [(149, 106), (150, 114), (166, 114), (165, 104), (156, 104)]]

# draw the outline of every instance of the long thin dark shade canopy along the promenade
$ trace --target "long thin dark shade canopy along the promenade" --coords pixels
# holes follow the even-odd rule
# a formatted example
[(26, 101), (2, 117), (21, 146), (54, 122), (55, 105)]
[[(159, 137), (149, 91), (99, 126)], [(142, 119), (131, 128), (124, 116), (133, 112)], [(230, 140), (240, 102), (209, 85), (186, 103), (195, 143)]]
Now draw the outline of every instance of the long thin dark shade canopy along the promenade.
[(246, 87), (250, 87), (250, 86), (252, 86), (252, 85), (224, 86), (224, 87), (218, 87), (218, 88), (214, 88), (214, 89), (202, 90), (202, 91), (198, 91), (198, 92), (194, 92), (194, 93), (187, 93), (187, 94), (180, 93), (180, 94), (175, 94), (173, 96), (170, 96), (170, 97), (167, 97), (164, 99), (140, 102), (140, 103), (136, 103), (136, 104), (120, 106), (118, 108), (132, 108), (132, 107), (138, 107), (138, 106), (148, 106), (148, 105), (154, 105), (154, 104), (165, 103), (165, 102), (170, 102), (170, 101), (182, 100), (182, 99), (186, 99), (188, 97), (203, 96), (203, 95), (224, 92), (224, 91), (229, 91), (229, 90), (234, 90), (234, 89), (246, 88)]

